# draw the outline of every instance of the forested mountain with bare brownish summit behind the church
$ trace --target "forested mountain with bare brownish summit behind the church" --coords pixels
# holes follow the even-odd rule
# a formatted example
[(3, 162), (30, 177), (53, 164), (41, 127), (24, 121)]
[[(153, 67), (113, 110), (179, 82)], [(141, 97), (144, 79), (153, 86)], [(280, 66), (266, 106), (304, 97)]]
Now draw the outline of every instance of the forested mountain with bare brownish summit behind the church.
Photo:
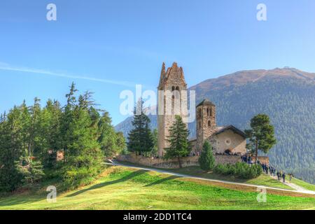
[[(208, 98), (216, 104), (219, 126), (235, 125), (244, 130), (253, 116), (266, 113), (277, 139), (268, 153), (270, 162), (315, 183), (315, 73), (288, 67), (238, 71), (204, 80), (189, 90), (196, 91), (197, 103)], [(156, 128), (157, 117), (149, 117), (151, 127)], [(131, 121), (127, 118), (116, 130), (127, 135)], [(195, 123), (188, 128), (194, 137)]]

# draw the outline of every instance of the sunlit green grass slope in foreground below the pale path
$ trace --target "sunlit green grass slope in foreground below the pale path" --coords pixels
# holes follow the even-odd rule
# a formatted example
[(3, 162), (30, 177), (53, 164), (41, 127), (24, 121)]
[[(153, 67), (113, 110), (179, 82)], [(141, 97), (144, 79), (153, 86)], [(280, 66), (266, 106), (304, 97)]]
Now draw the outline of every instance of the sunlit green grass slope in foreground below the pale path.
[(0, 198), (0, 209), (315, 209), (315, 196), (267, 190), (258, 203), (255, 188), (183, 179), (125, 167), (110, 167), (90, 186), (62, 193), (48, 203), (35, 193)]

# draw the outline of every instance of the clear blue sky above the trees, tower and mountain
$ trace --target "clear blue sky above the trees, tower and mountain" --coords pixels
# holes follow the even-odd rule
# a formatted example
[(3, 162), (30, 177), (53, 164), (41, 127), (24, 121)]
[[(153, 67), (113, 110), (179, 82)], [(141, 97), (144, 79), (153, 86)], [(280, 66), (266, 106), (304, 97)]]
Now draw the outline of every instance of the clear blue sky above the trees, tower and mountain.
[[(46, 20), (48, 3), (57, 21)], [(244, 69), (315, 72), (314, 40), (313, 0), (2, 0), (0, 112), (34, 97), (64, 103), (74, 81), (116, 125), (120, 92), (155, 90), (162, 62), (183, 66), (188, 86)]]

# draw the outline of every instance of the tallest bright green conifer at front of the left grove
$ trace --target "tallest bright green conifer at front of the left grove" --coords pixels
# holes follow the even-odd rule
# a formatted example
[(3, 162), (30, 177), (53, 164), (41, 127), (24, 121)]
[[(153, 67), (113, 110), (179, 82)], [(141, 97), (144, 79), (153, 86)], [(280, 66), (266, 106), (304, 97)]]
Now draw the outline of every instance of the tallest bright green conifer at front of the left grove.
[[(71, 91), (73, 90), (71, 86)], [(70, 91), (70, 92), (71, 92)], [(68, 102), (68, 115), (65, 116), (65, 162), (62, 179), (66, 188), (76, 188), (90, 183), (102, 170), (102, 151), (97, 141), (98, 127), (95, 124), (95, 111), (89, 99), (80, 96), (79, 104), (75, 97)], [(66, 113), (66, 111), (65, 111)]]

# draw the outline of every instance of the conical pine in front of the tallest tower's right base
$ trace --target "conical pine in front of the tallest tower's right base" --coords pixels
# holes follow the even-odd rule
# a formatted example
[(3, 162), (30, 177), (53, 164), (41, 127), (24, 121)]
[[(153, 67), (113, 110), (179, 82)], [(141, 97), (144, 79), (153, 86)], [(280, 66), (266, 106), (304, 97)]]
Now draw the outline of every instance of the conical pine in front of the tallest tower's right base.
[(189, 132), (181, 116), (176, 116), (175, 121), (169, 127), (169, 148), (166, 148), (165, 158), (178, 158), (181, 168), (181, 157), (190, 153), (190, 144), (188, 142)]

